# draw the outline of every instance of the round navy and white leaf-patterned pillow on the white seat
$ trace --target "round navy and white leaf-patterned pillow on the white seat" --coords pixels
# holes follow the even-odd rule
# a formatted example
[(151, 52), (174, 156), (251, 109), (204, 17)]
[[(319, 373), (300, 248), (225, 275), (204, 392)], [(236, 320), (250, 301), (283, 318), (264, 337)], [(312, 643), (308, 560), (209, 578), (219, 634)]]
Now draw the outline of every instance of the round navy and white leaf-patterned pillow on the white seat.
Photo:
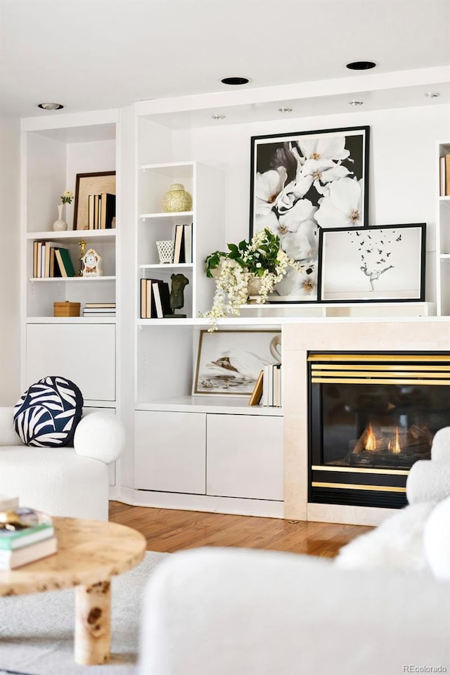
[(60, 377), (47, 377), (31, 385), (14, 408), (14, 427), (25, 445), (68, 445), (83, 413), (77, 385)]

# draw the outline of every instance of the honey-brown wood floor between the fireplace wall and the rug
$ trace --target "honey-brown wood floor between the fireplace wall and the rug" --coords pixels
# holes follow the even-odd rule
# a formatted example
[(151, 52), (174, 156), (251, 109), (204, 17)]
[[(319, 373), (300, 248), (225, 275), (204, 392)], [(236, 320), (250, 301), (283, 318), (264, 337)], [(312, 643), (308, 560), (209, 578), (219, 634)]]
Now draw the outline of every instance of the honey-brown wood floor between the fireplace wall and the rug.
[(139, 530), (146, 537), (148, 551), (165, 553), (198, 546), (240, 546), (333, 558), (341, 546), (373, 529), (361, 525), (147, 508), (117, 501), (110, 501), (110, 520)]

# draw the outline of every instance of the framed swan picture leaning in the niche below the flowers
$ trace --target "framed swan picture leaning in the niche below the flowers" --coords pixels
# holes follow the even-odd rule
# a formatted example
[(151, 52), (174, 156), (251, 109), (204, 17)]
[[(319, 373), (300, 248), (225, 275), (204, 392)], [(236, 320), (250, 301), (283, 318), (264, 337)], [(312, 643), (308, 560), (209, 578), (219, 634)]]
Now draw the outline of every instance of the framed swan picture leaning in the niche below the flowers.
[(277, 363), (279, 330), (200, 330), (192, 393), (248, 397), (264, 366)]

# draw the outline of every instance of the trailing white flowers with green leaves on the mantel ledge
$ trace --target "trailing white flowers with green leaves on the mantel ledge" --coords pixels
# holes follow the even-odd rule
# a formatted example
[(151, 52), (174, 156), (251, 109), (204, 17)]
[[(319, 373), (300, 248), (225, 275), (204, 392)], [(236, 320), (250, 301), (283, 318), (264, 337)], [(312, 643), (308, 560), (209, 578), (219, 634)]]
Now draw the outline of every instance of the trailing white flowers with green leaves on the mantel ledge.
[(227, 245), (228, 252), (214, 251), (205, 260), (206, 275), (214, 278), (217, 286), (212, 308), (200, 315), (210, 319), (210, 332), (217, 330), (218, 319), (240, 314), (252, 279), (260, 282), (257, 303), (264, 304), (289, 267), (304, 271), (303, 265), (280, 248), (280, 238), (269, 229), (257, 232), (250, 241)]

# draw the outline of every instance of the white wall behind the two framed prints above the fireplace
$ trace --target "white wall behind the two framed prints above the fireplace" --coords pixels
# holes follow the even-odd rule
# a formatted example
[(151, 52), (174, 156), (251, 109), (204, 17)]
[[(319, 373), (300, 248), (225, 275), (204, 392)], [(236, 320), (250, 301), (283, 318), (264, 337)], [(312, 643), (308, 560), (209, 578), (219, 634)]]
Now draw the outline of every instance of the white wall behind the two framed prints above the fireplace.
[(177, 131), (173, 160), (224, 169), (226, 240), (237, 242), (249, 233), (251, 136), (359, 126), (371, 128), (369, 224), (427, 224), (426, 296), (434, 302), (437, 143), (450, 138), (448, 105)]

